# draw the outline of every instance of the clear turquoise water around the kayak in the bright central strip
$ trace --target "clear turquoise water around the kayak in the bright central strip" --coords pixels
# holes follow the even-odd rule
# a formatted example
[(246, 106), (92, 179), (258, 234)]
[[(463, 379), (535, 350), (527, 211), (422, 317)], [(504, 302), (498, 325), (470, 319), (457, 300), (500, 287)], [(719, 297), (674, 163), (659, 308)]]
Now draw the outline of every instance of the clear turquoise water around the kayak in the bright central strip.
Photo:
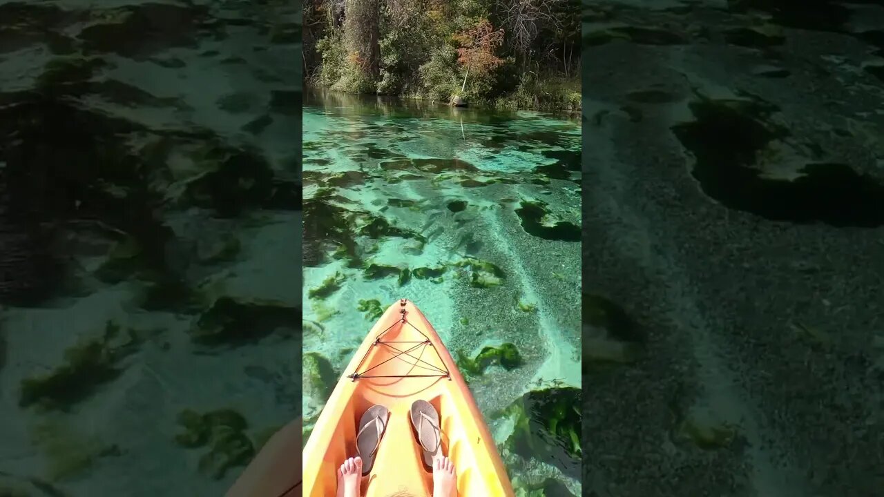
[[(304, 96), (305, 357), (339, 375), (376, 318), (370, 301), (400, 298), (454, 356), (514, 344), (521, 364), (493, 363), (470, 388), (514, 483), (552, 478), (576, 495), (579, 461), (511, 450), (502, 413), (532, 390), (580, 388), (580, 145), (567, 116)], [(309, 367), (306, 432), (330, 393)]]

